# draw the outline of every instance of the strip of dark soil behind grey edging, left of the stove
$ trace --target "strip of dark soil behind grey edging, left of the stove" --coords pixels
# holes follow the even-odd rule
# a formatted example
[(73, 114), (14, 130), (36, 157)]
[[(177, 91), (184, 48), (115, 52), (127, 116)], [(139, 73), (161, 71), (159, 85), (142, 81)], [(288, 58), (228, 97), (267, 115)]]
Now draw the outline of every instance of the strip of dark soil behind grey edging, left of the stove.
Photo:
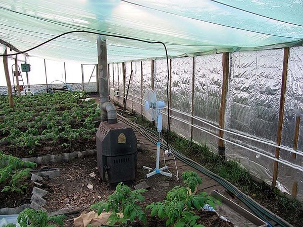
[[(68, 146), (62, 146), (64, 143), (67, 143)], [(96, 149), (95, 137), (93, 137), (91, 140), (78, 139), (76, 141), (72, 141), (71, 145), (72, 146), (70, 147), (68, 140), (59, 140), (56, 142), (45, 140), (40, 141), (40, 145), (35, 145), (34, 147), (2, 145), (0, 149), (3, 150), (4, 153), (12, 154), (18, 158), (36, 157), (47, 154), (72, 153), (76, 151)]]

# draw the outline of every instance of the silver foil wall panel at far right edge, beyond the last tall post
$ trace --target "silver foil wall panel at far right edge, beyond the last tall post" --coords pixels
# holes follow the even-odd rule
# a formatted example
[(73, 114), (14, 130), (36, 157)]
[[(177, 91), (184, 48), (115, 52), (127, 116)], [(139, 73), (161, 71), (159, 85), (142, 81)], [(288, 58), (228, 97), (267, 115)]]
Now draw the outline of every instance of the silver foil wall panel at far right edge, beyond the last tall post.
[[(294, 145), (294, 129), (296, 118), (300, 117), (299, 137), (297, 151), (303, 151), (303, 47), (293, 47), (289, 49), (289, 61), (287, 71), (285, 107), (282, 129), (282, 145), (292, 148)], [(292, 153), (280, 150), (280, 158), (302, 166), (303, 157), (296, 155), (292, 157)], [(278, 167), (278, 183), (280, 187), (291, 194), (292, 185), (298, 183), (299, 200), (303, 200), (303, 173), (289, 166), (279, 164)]]

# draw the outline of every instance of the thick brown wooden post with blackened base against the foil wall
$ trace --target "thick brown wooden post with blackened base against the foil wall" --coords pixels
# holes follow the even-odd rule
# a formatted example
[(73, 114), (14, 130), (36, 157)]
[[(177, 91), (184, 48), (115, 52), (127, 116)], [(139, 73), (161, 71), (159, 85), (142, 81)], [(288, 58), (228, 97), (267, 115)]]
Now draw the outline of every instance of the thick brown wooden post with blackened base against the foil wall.
[[(221, 104), (219, 112), (219, 128), (225, 128), (225, 110), (226, 110), (226, 96), (228, 91), (228, 76), (229, 76), (229, 53), (222, 54), (222, 69), (223, 69), (223, 80), (222, 80), (222, 94)], [(219, 137), (224, 137), (224, 132), (219, 130)], [(225, 146), (224, 141), (219, 139), (218, 151), (221, 161), (225, 160)]]

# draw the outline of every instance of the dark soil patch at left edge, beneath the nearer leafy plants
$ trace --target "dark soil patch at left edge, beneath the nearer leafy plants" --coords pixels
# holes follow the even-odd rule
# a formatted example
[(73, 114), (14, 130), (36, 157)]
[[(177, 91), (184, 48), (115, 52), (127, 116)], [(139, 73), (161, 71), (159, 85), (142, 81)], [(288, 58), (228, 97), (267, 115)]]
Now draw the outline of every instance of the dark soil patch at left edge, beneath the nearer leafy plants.
[(33, 183), (30, 180), (25, 183), (28, 184), (28, 186), (23, 194), (13, 192), (1, 192), (4, 186), (0, 185), (0, 209), (5, 207), (13, 208), (26, 203), (30, 203), (31, 193), (33, 191)]

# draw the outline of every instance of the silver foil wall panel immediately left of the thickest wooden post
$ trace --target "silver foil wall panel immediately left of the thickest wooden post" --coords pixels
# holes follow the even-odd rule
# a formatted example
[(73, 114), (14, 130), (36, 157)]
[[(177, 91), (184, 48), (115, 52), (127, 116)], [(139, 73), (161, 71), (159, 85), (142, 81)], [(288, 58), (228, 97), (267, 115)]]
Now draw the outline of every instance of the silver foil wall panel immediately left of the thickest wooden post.
[[(222, 71), (221, 53), (195, 57), (193, 115), (215, 126), (219, 125)], [(198, 120), (194, 120), (193, 124), (218, 134), (217, 129)], [(192, 139), (198, 144), (206, 143), (214, 152), (218, 150), (218, 139), (199, 129), (192, 129)]]

